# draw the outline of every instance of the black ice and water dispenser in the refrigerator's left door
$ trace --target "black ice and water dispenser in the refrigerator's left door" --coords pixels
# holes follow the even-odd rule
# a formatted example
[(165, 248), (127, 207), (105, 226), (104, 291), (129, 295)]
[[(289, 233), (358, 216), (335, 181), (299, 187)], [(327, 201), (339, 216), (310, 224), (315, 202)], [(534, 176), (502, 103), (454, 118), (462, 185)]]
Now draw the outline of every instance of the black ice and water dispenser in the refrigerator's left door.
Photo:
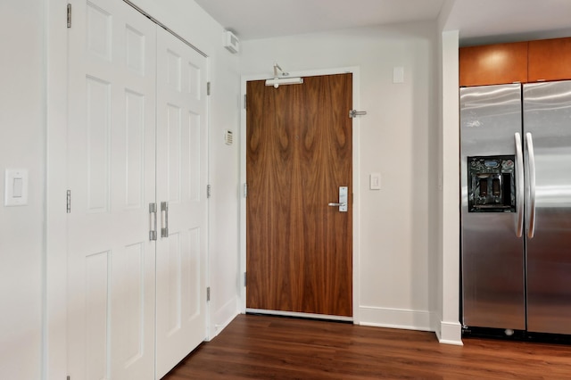
[(516, 212), (515, 157), (468, 157), (468, 212)]

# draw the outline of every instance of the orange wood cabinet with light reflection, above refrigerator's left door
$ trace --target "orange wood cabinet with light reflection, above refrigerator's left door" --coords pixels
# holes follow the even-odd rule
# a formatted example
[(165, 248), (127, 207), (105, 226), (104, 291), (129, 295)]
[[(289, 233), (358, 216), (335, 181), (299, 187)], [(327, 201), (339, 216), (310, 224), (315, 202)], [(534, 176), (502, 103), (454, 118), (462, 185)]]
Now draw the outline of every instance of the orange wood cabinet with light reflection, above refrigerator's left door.
[[(527, 81), (527, 42), (461, 47), (460, 87)], [(571, 70), (571, 69), (570, 69)]]

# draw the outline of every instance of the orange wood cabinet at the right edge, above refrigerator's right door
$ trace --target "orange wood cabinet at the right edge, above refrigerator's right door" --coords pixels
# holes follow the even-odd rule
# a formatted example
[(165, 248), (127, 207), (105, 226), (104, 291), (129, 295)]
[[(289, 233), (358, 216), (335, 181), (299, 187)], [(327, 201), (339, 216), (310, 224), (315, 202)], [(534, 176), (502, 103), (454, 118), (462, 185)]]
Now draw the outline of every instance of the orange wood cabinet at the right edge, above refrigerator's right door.
[(530, 41), (528, 65), (530, 82), (571, 79), (571, 37)]

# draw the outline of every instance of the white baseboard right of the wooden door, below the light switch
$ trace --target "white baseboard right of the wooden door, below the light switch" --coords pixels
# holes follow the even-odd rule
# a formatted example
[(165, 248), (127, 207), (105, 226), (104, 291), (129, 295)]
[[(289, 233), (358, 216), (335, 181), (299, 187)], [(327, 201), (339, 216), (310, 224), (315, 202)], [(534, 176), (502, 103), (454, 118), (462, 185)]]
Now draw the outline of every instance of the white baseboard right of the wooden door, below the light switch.
[(431, 313), (419, 310), (385, 309), (361, 306), (360, 325), (407, 330), (434, 331), (430, 326)]

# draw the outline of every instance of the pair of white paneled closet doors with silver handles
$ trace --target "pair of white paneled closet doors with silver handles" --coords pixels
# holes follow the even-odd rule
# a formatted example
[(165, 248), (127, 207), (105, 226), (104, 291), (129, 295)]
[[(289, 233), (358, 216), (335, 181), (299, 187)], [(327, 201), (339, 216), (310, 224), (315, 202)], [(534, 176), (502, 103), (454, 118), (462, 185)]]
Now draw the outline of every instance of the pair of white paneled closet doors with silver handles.
[(206, 58), (122, 1), (72, 7), (69, 375), (161, 378), (206, 336)]

